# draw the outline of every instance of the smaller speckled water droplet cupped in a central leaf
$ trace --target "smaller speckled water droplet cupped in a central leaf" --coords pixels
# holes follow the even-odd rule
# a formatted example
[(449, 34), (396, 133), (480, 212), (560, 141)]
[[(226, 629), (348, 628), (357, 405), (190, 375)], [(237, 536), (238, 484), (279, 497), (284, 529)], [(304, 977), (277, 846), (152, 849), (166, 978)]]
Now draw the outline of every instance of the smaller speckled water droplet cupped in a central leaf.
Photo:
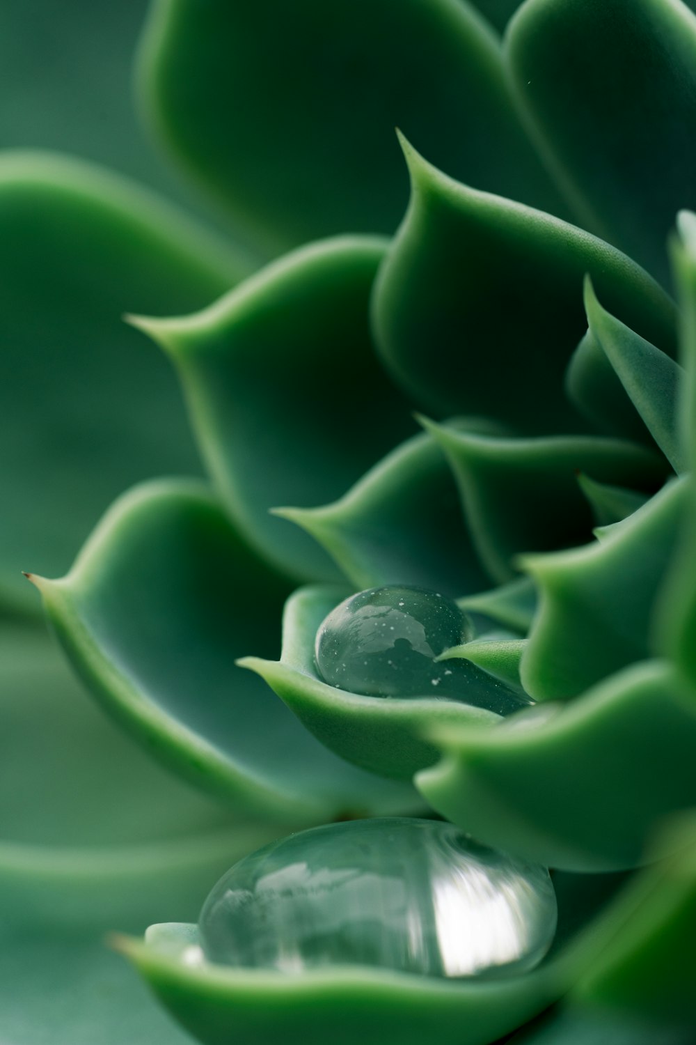
[(445, 650), (471, 638), (455, 602), (425, 588), (387, 585), (351, 596), (316, 635), (315, 660), (326, 682), (368, 697), (436, 697), (507, 715), (524, 695)]

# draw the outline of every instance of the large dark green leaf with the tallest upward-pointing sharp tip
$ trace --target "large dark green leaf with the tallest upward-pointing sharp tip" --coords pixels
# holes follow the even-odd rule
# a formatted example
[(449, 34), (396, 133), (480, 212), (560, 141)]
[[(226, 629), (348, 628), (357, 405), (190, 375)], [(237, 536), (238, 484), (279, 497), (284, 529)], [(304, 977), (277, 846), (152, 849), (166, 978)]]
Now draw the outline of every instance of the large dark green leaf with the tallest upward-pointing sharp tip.
[(673, 303), (625, 255), (405, 152), (411, 203), (380, 270), (373, 315), (385, 365), (419, 401), (527, 433), (582, 427), (561, 393), (586, 328), (585, 273), (616, 316), (673, 350)]

